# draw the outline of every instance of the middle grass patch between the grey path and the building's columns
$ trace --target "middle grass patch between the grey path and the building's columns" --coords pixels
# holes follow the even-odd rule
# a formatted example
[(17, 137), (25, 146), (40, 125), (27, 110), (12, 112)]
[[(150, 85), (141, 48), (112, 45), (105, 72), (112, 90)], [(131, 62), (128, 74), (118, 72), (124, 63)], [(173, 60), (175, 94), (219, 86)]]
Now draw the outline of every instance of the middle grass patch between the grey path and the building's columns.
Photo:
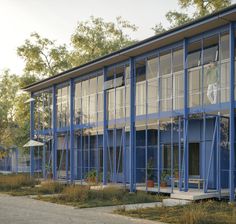
[(86, 186), (67, 186), (58, 196), (39, 197), (39, 199), (79, 208), (88, 208), (162, 201), (163, 196), (151, 195), (146, 192), (131, 194), (125, 189), (116, 187), (91, 190)]

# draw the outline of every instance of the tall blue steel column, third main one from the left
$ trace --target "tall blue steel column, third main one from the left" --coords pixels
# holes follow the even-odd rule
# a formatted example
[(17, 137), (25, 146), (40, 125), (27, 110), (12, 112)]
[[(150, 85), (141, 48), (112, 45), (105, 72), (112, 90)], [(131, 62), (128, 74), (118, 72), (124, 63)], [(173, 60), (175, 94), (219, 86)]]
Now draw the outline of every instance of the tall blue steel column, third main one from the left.
[(74, 182), (74, 80), (70, 80), (70, 182)]

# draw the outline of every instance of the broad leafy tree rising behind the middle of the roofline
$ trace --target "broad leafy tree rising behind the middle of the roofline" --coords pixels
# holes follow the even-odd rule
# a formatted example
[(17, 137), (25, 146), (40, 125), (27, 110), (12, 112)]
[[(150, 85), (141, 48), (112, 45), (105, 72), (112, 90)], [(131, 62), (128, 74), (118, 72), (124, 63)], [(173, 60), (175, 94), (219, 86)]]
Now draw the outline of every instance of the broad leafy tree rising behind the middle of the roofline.
[(93, 16), (90, 20), (79, 22), (71, 36), (73, 65), (86, 63), (134, 43), (124, 30), (135, 32), (137, 27), (121, 17), (117, 17), (115, 23)]

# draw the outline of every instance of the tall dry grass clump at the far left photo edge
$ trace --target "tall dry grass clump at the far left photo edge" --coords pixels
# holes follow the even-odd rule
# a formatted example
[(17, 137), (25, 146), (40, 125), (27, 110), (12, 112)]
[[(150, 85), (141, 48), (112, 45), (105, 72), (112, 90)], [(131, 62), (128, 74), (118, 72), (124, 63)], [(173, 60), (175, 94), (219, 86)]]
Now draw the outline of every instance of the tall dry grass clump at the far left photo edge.
[(0, 176), (0, 190), (2, 191), (15, 190), (21, 187), (33, 187), (35, 184), (37, 184), (37, 181), (26, 174)]

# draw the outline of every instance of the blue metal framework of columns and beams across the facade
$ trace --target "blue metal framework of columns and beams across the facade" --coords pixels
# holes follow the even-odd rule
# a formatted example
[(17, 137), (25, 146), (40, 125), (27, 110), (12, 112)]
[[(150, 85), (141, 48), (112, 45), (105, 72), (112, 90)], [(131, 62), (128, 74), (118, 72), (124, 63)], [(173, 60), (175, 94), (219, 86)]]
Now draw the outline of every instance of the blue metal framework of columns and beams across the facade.
[[(205, 21), (203, 21), (205, 22)], [(202, 23), (203, 23), (202, 22)], [(188, 68), (187, 68), (187, 47), (189, 43), (192, 43), (194, 41), (200, 40), (201, 44), (203, 44), (203, 38), (212, 36), (214, 34), (218, 34), (220, 35), (220, 33), (225, 32), (229, 30), (230, 32), (230, 102), (225, 102), (225, 103), (218, 103), (215, 105), (204, 105), (203, 104), (203, 88), (202, 88), (202, 104), (198, 107), (194, 107), (194, 108), (189, 108), (188, 107)], [(140, 54), (134, 58), (130, 58), (129, 59), (129, 65), (130, 65), (130, 120), (129, 120), (129, 125), (130, 125), (130, 151), (129, 151), (129, 160), (130, 160), (130, 164), (129, 164), (129, 169), (127, 168), (127, 170), (129, 170), (129, 183), (130, 183), (130, 191), (133, 192), (135, 191), (135, 185), (136, 185), (136, 135), (135, 135), (135, 122), (136, 121), (140, 121), (140, 120), (146, 120), (146, 129), (145, 129), (145, 161), (146, 161), (146, 166), (145, 166), (145, 178), (146, 178), (146, 182), (147, 182), (147, 158), (148, 158), (148, 151), (147, 151), (147, 121), (148, 119), (157, 119), (158, 121), (158, 148), (157, 148), (157, 154), (158, 154), (158, 158), (157, 158), (157, 165), (158, 165), (158, 169), (157, 169), (157, 182), (158, 182), (158, 191), (160, 192), (160, 179), (161, 179), (161, 153), (162, 153), (162, 147), (161, 147), (161, 143), (160, 143), (160, 119), (161, 118), (167, 118), (167, 117), (171, 117), (172, 121), (173, 121), (173, 117), (178, 117), (179, 118), (179, 135), (178, 135), (178, 143), (179, 143), (179, 190), (182, 190), (182, 183), (184, 183), (184, 191), (188, 191), (188, 179), (189, 179), (189, 146), (188, 146), (188, 138), (189, 138), (189, 131), (188, 131), (188, 124), (189, 124), (189, 114), (195, 114), (195, 113), (203, 113), (203, 134), (202, 134), (202, 153), (206, 152), (206, 114), (207, 112), (211, 112), (211, 111), (219, 111), (219, 110), (224, 110), (224, 109), (230, 109), (230, 155), (229, 155), (229, 160), (230, 160), (230, 169), (229, 169), (229, 188), (230, 188), (230, 200), (233, 200), (235, 197), (235, 193), (234, 193), (234, 178), (235, 178), (235, 171), (234, 171), (234, 166), (235, 166), (235, 159), (234, 159), (234, 154), (235, 154), (235, 149), (234, 149), (234, 141), (235, 141), (235, 136), (234, 136), (234, 128), (235, 128), (235, 124), (234, 124), (234, 108), (235, 108), (235, 96), (234, 96), (234, 73), (235, 73), (235, 65), (234, 65), (234, 32), (235, 32), (235, 23), (231, 22), (230, 25), (224, 25), (221, 27), (218, 27), (216, 29), (212, 29), (208, 32), (204, 32), (201, 33), (197, 36), (193, 36), (190, 37), (188, 39), (184, 39), (183, 41), (178, 41), (174, 44), (170, 44), (168, 46), (164, 46), (161, 47), (159, 49), (155, 49), (152, 50), (150, 52), (146, 52), (144, 54)], [(176, 33), (178, 33), (178, 31), (176, 31)], [(168, 36), (168, 35), (167, 35)], [(220, 36), (219, 36), (220, 37)], [(160, 52), (166, 51), (166, 50), (170, 50), (173, 49), (174, 47), (180, 47), (183, 46), (183, 51), (184, 51), (184, 55), (183, 55), (183, 60), (184, 60), (184, 108), (180, 109), (180, 110), (175, 110), (173, 111), (173, 107), (171, 111), (165, 111), (165, 112), (161, 112), (161, 107), (160, 107), (160, 99), (158, 99), (158, 112), (157, 113), (153, 113), (153, 114), (148, 114), (148, 107), (147, 107), (147, 101), (146, 101), (146, 114), (145, 115), (141, 115), (141, 116), (136, 116), (135, 114), (135, 88), (136, 88), (136, 83), (135, 83), (135, 61), (140, 60), (140, 59), (145, 59), (147, 60), (147, 57), (151, 56), (151, 55), (157, 55), (159, 56)], [(203, 51), (203, 47), (201, 48)], [(203, 57), (201, 58), (202, 62), (203, 62)], [(158, 62), (160, 65), (160, 62)], [(171, 62), (172, 63), (172, 62)], [(104, 76), (104, 84), (106, 81), (106, 74), (107, 74), (107, 70), (108, 69), (112, 69), (115, 66), (120, 66), (120, 65), (127, 65), (127, 60), (123, 61), (123, 62), (119, 62), (116, 64), (113, 64), (109, 67), (104, 67), (103, 68), (103, 76)], [(203, 72), (203, 63), (201, 63), (202, 66), (202, 72)], [(159, 66), (160, 67), (160, 66)], [(63, 133), (63, 132), (70, 132), (70, 150), (71, 150), (71, 154), (70, 154), (70, 171), (71, 171), (71, 182), (74, 181), (74, 131), (75, 130), (81, 130), (81, 144), (83, 142), (83, 129), (85, 128), (92, 128), (92, 127), (98, 127), (99, 125), (101, 125), (101, 123), (99, 124), (99, 122), (95, 123), (90, 123), (90, 124), (79, 124), (79, 125), (74, 125), (73, 123), (73, 119), (74, 119), (74, 81), (76, 80), (85, 80), (85, 79), (89, 79), (91, 77), (96, 76), (97, 74), (99, 74), (100, 70), (93, 72), (91, 74), (85, 74), (81, 77), (78, 77), (76, 79), (71, 79), (70, 80), (70, 126), (68, 127), (63, 127), (60, 129), (56, 128), (56, 89), (60, 88), (62, 86), (68, 85), (68, 82), (65, 83), (60, 83), (57, 86), (53, 86), (53, 128), (52, 128), (52, 132), (53, 132), (53, 175), (54, 175), (54, 179), (56, 177), (56, 134), (57, 133)], [(173, 75), (172, 75), (173, 76)], [(172, 77), (173, 80), (173, 77)], [(160, 97), (160, 78), (158, 77), (158, 83), (159, 83), (159, 87), (158, 87), (158, 91), (159, 91), (159, 97)], [(203, 83), (203, 76), (202, 76), (202, 83)], [(146, 81), (146, 87), (147, 87), (147, 81)], [(202, 85), (203, 87), (203, 85)], [(115, 90), (116, 91), (116, 90)], [(116, 94), (115, 94), (116, 96)], [(146, 96), (147, 96), (147, 88), (146, 88)], [(103, 90), (103, 101), (104, 101), (104, 105), (103, 105), (103, 184), (106, 185), (107, 184), (107, 178), (108, 178), (108, 133), (107, 133), (107, 129), (108, 129), (108, 117), (107, 117), (107, 91), (104, 88)], [(116, 98), (115, 98), (116, 101)], [(116, 105), (116, 103), (115, 103)], [(32, 105), (31, 105), (32, 106)], [(173, 106), (173, 101), (172, 101), (172, 106)], [(32, 108), (31, 108), (31, 113), (32, 112)], [(32, 114), (33, 116), (33, 114)], [(183, 125), (182, 125), (182, 116), (183, 116)], [(125, 116), (126, 117), (126, 116)], [(221, 167), (220, 167), (220, 115), (216, 118), (217, 119), (217, 124), (215, 125), (215, 132), (217, 134), (215, 134), (216, 137), (215, 141), (217, 142), (217, 172), (219, 173), (221, 171)], [(32, 122), (32, 120), (31, 120)], [(121, 119), (115, 119), (109, 121), (109, 125), (116, 125), (116, 124), (125, 124), (126, 122), (126, 118), (121, 118)], [(183, 133), (181, 133), (181, 126), (182, 126), (182, 130)], [(33, 127), (33, 124), (31, 124), (31, 127)], [(43, 130), (43, 131), (37, 131), (37, 133), (43, 132), (50, 132), (51, 130)], [(124, 133), (123, 133), (124, 132)], [(32, 132), (31, 130), (31, 137), (33, 136), (34, 131)], [(183, 159), (181, 158), (181, 148), (182, 148), (182, 142), (181, 142), (181, 134), (183, 134)], [(98, 133), (97, 133), (98, 135)], [(125, 128), (124, 130), (122, 130), (122, 135), (123, 135), (123, 149), (125, 149), (126, 143), (125, 143)], [(174, 188), (174, 183), (173, 183), (173, 124), (171, 122), (171, 189), (173, 191)], [(98, 136), (97, 136), (98, 138)], [(90, 137), (88, 138), (88, 141)], [(214, 139), (213, 139), (214, 140)], [(214, 141), (213, 141), (214, 142)], [(98, 144), (98, 143), (97, 143)], [(215, 143), (214, 143), (215, 144)], [(90, 144), (89, 144), (90, 145)], [(116, 150), (116, 128), (113, 129), (113, 148), (114, 150)], [(82, 144), (83, 146), (83, 144)], [(82, 147), (81, 146), (81, 154), (82, 152)], [(213, 147), (213, 146), (212, 146)], [(89, 153), (89, 161), (90, 161), (90, 146), (88, 147), (88, 153)], [(97, 178), (98, 178), (98, 145), (96, 146), (97, 148), (97, 163), (96, 163), (96, 172), (97, 172)], [(72, 153), (73, 152), (73, 153)], [(33, 156), (33, 153), (31, 153), (31, 156)], [(123, 163), (124, 163), (124, 167), (125, 167), (125, 160), (126, 160), (126, 153), (125, 150), (123, 151)], [(82, 157), (81, 157), (82, 159)], [(33, 172), (33, 159), (31, 162), (31, 173)], [(208, 174), (209, 174), (209, 169), (208, 171), (206, 170), (206, 161), (202, 161), (202, 170), (201, 170), (201, 175), (203, 176), (203, 179), (205, 181), (208, 180)], [(90, 163), (88, 165), (88, 167), (90, 167)], [(183, 169), (182, 169), (183, 167)], [(183, 171), (183, 173), (182, 173)], [(183, 174), (183, 175), (182, 175)], [(126, 177), (125, 177), (126, 173), (125, 170), (123, 169), (123, 182), (124, 184), (126, 183)], [(81, 161), (81, 181), (82, 181), (82, 176), (83, 176), (83, 165), (82, 165), (82, 161)], [(117, 170), (116, 170), (116, 153), (113, 154), (113, 179), (116, 182), (116, 176), (117, 176)], [(184, 182), (183, 182), (184, 181)], [(207, 183), (204, 184), (203, 186), (204, 188), (204, 192), (207, 192)], [(221, 179), (220, 176), (217, 177), (217, 190), (220, 191), (221, 190)]]

